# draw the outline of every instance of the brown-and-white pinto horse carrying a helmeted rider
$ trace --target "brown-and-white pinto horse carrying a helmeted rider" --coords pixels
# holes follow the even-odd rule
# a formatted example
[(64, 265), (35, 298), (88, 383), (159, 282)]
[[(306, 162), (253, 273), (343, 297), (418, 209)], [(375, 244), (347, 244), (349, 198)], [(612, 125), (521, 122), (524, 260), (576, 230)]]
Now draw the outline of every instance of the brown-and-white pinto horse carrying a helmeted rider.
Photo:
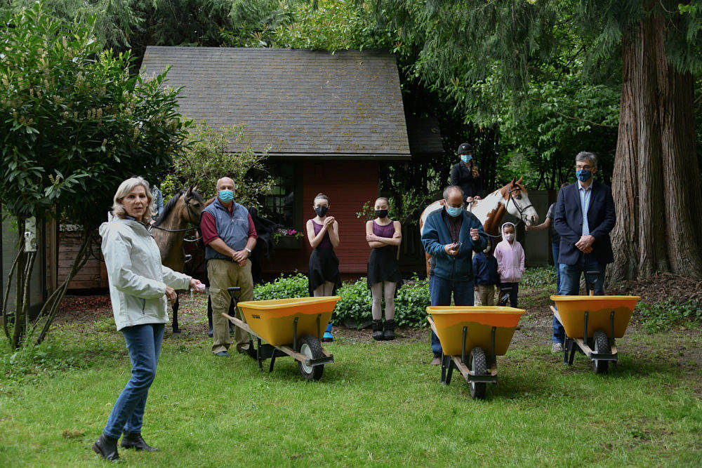
[[(419, 220), (420, 234), (424, 232), (424, 222), (428, 215), (441, 209), (444, 204), (444, 200), (438, 200), (424, 208)], [(482, 222), (484, 231), (492, 237), (500, 237), (502, 235), (500, 224), (505, 213), (510, 213), (515, 218), (519, 218), (528, 226), (538, 222), (538, 214), (531, 201), (529, 201), (529, 194), (527, 194), (527, 189), (522, 185), (522, 178), (519, 178), (519, 180), (513, 178), (508, 185), (497, 189), (482, 200), (474, 201), (471, 207), (466, 206), (465, 209), (470, 210)], [(427, 276), (429, 276), (432, 256), (428, 253), (425, 253), (425, 256), (427, 258)]]

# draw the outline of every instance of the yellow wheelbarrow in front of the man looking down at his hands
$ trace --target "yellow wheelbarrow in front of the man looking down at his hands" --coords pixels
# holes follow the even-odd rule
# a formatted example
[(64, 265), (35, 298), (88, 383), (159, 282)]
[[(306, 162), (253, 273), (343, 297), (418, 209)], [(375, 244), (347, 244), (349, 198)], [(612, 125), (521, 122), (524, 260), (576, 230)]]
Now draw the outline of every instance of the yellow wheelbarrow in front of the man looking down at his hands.
[(441, 382), (451, 384), (456, 368), (470, 386), (470, 396), (484, 398), (486, 384), (497, 383), (497, 359), (503, 356), (523, 309), (513, 307), (427, 307), (429, 325), (442, 347)]

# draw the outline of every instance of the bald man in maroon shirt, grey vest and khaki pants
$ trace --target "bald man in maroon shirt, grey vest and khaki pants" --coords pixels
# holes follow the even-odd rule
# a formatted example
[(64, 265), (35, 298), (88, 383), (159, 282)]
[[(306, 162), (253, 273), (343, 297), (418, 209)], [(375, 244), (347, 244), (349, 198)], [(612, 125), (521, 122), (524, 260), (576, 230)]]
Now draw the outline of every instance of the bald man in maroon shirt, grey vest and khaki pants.
[[(222, 316), (223, 312), (228, 312), (231, 301), (227, 288), (239, 286), (239, 300), (253, 300), (249, 255), (258, 238), (249, 210), (234, 201), (232, 179), (225, 177), (217, 181), (217, 197), (202, 212), (200, 229), (205, 244), (212, 300), (212, 352), (217, 356), (229, 356), (227, 349), (232, 344), (232, 339), (229, 323)], [(244, 320), (239, 309), (236, 315)], [(237, 342), (237, 351), (246, 351), (249, 336), (244, 330), (237, 327), (234, 340)]]

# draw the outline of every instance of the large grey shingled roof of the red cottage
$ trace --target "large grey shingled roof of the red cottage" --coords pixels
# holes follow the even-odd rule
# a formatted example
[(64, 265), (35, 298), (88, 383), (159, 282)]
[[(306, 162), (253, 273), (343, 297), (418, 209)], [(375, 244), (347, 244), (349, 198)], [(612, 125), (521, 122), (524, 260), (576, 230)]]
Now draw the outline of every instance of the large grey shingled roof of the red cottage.
[(152, 76), (171, 66), (180, 112), (211, 126), (244, 125), (270, 156), (409, 159), (395, 56), (385, 51), (147, 47)]

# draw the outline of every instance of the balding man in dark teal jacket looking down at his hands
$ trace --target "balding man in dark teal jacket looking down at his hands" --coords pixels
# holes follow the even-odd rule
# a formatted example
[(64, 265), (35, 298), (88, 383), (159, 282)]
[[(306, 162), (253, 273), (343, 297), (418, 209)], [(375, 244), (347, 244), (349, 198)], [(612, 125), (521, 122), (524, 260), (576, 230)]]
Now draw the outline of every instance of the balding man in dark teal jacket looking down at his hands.
[[(422, 244), (432, 255), (429, 294), (432, 305), (473, 305), (472, 253), (486, 246), (486, 234), (475, 215), (463, 206), (463, 190), (451, 185), (444, 190), (444, 207), (424, 223)], [(432, 366), (441, 363), (442, 348), (432, 331)]]

